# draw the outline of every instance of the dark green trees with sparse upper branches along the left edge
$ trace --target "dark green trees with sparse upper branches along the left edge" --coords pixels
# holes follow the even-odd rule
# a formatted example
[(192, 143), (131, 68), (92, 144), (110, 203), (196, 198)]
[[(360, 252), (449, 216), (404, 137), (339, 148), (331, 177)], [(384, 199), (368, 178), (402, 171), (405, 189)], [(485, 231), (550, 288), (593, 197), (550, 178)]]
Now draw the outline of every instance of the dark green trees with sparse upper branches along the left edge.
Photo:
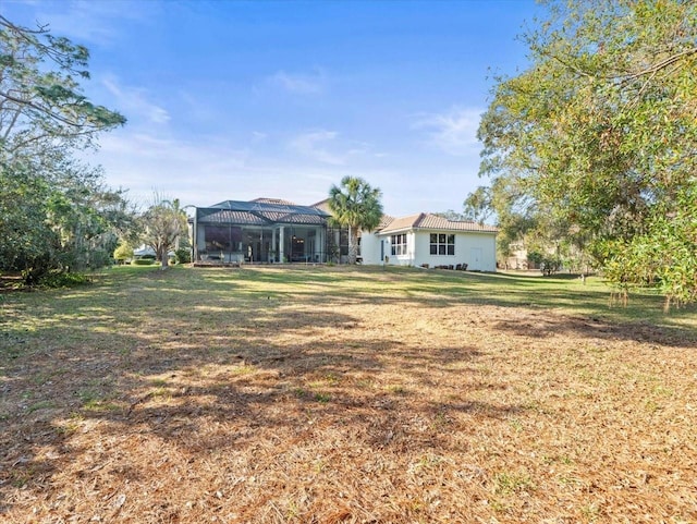
[(28, 282), (99, 266), (131, 214), (101, 171), (73, 158), (125, 119), (90, 102), (86, 48), (0, 15), (0, 270)]

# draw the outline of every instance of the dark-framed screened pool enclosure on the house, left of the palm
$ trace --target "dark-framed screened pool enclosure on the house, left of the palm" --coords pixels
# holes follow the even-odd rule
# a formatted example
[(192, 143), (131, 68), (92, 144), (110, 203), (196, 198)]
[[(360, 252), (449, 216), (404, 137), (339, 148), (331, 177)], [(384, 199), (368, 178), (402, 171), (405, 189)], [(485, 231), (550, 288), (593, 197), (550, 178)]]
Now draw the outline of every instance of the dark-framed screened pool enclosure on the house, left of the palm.
[(329, 215), (283, 200), (225, 200), (196, 208), (189, 223), (194, 261), (326, 263), (334, 233)]

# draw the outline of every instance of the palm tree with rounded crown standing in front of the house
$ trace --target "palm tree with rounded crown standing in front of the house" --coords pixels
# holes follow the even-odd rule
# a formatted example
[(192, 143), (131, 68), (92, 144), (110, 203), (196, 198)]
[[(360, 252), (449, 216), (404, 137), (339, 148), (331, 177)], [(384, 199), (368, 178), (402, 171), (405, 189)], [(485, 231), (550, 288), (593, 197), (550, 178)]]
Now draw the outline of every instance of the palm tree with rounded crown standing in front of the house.
[(358, 176), (344, 176), (329, 190), (332, 222), (348, 228), (348, 264), (358, 257), (358, 230), (372, 231), (382, 218), (382, 192)]

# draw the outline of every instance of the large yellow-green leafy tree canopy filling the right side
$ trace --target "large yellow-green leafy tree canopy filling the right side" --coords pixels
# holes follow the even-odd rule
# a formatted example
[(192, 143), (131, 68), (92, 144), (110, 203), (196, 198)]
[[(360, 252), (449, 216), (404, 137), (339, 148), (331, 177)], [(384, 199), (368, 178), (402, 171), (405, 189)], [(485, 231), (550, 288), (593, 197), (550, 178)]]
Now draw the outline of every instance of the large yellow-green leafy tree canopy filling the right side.
[(524, 35), (531, 66), (482, 118), (482, 174), (617, 285), (697, 300), (697, 2), (547, 3)]

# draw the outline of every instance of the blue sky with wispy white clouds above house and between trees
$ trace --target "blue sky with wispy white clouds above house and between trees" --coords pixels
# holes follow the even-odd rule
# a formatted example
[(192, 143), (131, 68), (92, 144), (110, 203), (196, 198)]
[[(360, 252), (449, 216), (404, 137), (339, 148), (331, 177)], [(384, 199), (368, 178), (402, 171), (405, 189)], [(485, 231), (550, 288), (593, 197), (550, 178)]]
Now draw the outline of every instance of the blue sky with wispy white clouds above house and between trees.
[(16, 1), (91, 53), (93, 101), (129, 123), (90, 163), (139, 203), (314, 204), (344, 175), (384, 211), (462, 210), (492, 75), (525, 69), (533, 0)]

